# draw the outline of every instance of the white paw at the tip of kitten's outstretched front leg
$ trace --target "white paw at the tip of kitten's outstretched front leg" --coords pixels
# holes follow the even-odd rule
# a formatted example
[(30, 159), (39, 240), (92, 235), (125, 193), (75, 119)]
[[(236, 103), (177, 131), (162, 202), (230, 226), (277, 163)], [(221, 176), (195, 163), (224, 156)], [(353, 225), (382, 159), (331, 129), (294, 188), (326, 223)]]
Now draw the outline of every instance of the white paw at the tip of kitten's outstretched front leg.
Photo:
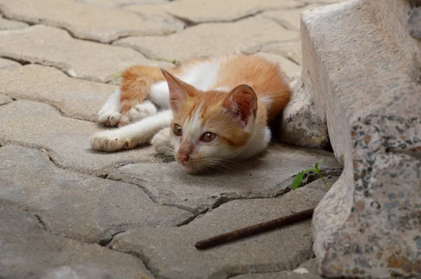
[(135, 140), (119, 136), (119, 130), (97, 132), (91, 137), (91, 146), (97, 151), (113, 152), (121, 149), (133, 149)]

